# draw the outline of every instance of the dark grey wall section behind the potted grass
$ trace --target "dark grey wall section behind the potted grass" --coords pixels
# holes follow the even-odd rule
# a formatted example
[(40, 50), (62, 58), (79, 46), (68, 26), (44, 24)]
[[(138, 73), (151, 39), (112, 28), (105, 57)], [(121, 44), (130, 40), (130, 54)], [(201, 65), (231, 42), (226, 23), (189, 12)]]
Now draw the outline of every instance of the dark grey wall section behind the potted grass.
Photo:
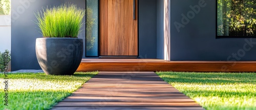
[[(78, 7), (85, 8), (85, 1), (80, 0), (17, 0), (11, 3), (12, 7), (12, 27), (11, 27), (11, 69), (12, 71), (21, 69), (40, 69), (35, 55), (35, 40), (41, 37), (34, 23), (34, 12), (42, 7), (60, 5), (62, 3), (77, 4)], [(82, 28), (84, 30), (84, 27)], [(84, 38), (85, 32), (81, 32), (79, 38)]]

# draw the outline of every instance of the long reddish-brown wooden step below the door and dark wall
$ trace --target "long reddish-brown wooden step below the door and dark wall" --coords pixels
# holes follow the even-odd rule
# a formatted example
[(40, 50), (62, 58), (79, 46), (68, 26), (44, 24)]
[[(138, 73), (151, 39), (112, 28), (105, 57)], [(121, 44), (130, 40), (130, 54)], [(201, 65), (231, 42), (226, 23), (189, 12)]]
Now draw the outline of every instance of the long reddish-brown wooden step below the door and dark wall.
[[(115, 67), (115, 69), (113, 69)], [(159, 59), (83, 59), (77, 71), (256, 72), (256, 61), (165, 61)]]

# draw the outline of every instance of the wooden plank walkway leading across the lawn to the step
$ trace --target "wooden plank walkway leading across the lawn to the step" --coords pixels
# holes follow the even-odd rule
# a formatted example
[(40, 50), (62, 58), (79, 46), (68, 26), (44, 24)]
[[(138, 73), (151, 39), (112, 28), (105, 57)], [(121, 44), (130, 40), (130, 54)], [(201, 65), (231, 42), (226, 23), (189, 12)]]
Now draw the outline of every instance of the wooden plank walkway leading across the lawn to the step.
[(52, 109), (203, 109), (154, 72), (99, 72)]

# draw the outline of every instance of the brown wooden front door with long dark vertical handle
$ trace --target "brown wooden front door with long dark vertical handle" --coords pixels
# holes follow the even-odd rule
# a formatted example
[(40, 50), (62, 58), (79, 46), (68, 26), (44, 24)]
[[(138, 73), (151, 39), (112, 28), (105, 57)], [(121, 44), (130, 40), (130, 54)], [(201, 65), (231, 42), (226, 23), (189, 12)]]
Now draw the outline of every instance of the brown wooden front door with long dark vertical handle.
[(100, 56), (138, 56), (137, 0), (100, 0)]

